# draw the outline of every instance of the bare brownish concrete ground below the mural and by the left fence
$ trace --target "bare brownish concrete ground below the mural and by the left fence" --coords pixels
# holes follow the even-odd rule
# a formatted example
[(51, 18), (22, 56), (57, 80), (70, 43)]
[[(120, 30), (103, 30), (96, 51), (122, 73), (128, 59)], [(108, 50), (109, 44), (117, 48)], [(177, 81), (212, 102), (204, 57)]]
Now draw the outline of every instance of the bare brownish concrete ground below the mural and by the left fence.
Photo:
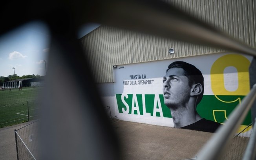
[[(16, 160), (14, 129), (31, 122), (0, 128), (0, 160)], [(212, 134), (116, 120), (122, 160), (184, 160), (194, 158)]]

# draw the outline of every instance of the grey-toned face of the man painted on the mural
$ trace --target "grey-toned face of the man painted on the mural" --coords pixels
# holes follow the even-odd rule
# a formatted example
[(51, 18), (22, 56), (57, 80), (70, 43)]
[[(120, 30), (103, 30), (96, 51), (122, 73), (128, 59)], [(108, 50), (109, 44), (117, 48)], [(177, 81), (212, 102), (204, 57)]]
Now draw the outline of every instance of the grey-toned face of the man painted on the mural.
[(163, 95), (165, 105), (176, 109), (185, 105), (190, 98), (190, 86), (188, 77), (184, 75), (182, 68), (171, 68), (163, 77)]

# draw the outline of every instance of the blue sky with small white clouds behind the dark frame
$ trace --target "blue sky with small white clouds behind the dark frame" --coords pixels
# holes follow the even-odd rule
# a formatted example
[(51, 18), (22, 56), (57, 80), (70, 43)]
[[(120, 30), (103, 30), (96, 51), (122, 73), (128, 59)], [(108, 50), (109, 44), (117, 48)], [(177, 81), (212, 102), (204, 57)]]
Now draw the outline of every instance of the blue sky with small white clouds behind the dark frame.
[[(82, 25), (77, 38), (99, 26), (93, 23)], [(30, 22), (0, 36), (0, 76), (14, 72), (17, 76), (46, 75), (49, 40), (48, 27), (42, 22)]]

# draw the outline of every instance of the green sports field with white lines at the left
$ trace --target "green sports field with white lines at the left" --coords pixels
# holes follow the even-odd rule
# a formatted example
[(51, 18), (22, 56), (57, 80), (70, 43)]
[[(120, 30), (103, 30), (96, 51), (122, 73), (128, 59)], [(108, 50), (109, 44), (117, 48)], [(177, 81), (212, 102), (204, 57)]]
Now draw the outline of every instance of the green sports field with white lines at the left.
[(24, 87), (22, 90), (0, 90), (0, 128), (37, 118), (38, 93), (41, 87)]

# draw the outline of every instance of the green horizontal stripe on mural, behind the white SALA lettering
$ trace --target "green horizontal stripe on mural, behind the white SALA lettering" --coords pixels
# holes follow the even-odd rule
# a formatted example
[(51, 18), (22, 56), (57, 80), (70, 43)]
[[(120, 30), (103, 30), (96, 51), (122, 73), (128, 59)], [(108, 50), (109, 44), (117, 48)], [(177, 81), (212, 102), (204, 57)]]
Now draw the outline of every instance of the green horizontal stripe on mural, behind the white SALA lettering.
[[(116, 94), (117, 105), (119, 113), (127, 111), (128, 114), (144, 115), (150, 114), (150, 116), (161, 116), (159, 107), (161, 108), (163, 117), (171, 118), (170, 109), (165, 105), (163, 95), (134, 95), (127, 94), (123, 97), (122, 94)], [(214, 96), (204, 95), (201, 102), (197, 105), (197, 112), (203, 118), (208, 120), (217, 121), (223, 123), (234, 110), (234, 108), (240, 104), (244, 96)], [(144, 103), (143, 103), (144, 100)], [(145, 109), (143, 109), (145, 108)], [(249, 125), (251, 123), (251, 111), (245, 118), (242, 125)]]

